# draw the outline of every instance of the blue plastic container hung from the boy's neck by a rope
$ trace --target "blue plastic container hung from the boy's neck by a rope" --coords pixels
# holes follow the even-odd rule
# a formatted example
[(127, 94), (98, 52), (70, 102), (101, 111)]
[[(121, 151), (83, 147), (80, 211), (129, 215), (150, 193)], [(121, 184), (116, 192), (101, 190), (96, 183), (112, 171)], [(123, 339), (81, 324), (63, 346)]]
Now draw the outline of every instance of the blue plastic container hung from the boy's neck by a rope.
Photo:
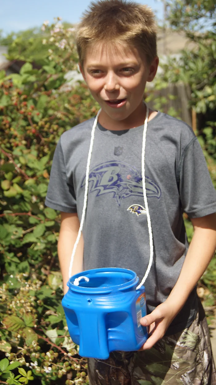
[[(89, 282), (80, 280), (80, 275)], [(146, 315), (145, 288), (136, 290), (138, 277), (132, 270), (103, 268), (72, 276), (62, 300), (70, 337), (80, 345), (82, 357), (105, 360), (114, 350), (139, 350), (148, 338), (139, 320)]]

